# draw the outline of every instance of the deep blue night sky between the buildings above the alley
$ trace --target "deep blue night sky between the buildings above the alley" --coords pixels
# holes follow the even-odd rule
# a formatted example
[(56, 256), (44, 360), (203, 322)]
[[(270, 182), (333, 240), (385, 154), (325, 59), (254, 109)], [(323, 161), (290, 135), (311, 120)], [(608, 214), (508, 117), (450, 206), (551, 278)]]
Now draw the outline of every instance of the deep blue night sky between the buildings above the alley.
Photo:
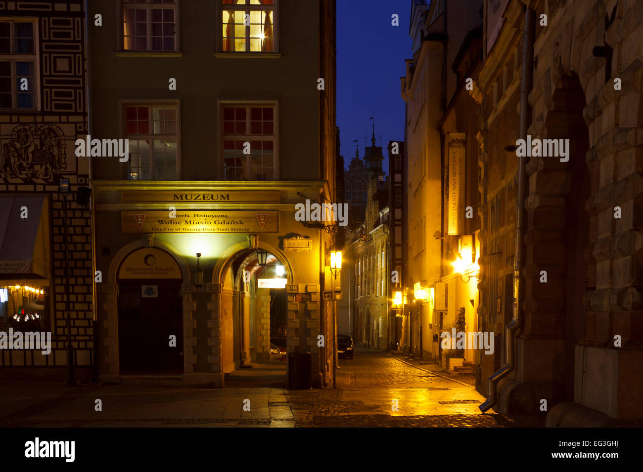
[[(364, 135), (370, 146), (375, 116), (376, 146), (382, 135), (383, 153), (391, 140), (404, 140), (404, 100), (400, 77), (404, 60), (412, 57), (408, 35), (411, 0), (338, 0), (337, 2), (337, 125), (341, 154), (349, 166), (358, 138), (364, 155)], [(399, 15), (392, 26), (391, 15)], [(384, 161), (388, 171), (388, 158)]]

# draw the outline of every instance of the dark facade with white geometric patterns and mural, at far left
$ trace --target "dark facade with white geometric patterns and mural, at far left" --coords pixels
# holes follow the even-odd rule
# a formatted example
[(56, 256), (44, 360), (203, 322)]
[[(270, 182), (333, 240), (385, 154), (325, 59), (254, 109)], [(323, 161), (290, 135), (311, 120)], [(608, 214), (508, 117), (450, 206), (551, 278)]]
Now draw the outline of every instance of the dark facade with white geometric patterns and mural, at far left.
[(0, 5), (0, 331), (51, 337), (48, 353), (3, 346), (3, 377), (64, 380), (70, 359), (93, 377), (85, 24), (82, 0)]

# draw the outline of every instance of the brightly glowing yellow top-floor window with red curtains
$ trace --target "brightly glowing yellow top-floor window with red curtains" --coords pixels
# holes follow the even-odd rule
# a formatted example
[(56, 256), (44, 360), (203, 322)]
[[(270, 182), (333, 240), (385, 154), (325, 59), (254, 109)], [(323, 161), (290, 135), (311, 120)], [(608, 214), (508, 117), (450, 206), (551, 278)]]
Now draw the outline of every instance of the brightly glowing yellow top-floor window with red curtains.
[(224, 52), (275, 52), (277, 0), (221, 0)]

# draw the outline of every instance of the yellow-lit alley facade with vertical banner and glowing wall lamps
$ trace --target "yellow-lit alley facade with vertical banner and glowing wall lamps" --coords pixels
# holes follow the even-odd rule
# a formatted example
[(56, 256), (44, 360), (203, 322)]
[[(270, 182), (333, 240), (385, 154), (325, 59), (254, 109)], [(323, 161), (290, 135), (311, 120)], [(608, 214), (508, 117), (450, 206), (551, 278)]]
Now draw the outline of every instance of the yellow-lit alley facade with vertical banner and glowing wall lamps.
[[(465, 87), (475, 72), (472, 51), (479, 48), (481, 6), (474, 0), (414, 1), (413, 58), (406, 60), (401, 80), (409, 235), (404, 352), (443, 365), (440, 334), (451, 332), (456, 315), (464, 308), (466, 331), (477, 325), (472, 269), (478, 229), (478, 122), (476, 103)], [(473, 351), (449, 357), (452, 354), (473, 363)]]

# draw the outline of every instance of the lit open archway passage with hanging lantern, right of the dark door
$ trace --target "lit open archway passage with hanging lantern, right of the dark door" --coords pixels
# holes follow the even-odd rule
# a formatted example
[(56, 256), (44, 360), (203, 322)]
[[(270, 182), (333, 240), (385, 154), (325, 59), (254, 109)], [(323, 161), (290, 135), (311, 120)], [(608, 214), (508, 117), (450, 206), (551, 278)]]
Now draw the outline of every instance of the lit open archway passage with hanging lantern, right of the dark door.
[(285, 386), (286, 281), (284, 263), (269, 252), (259, 258), (257, 250), (242, 250), (231, 258), (221, 280), (226, 387)]

